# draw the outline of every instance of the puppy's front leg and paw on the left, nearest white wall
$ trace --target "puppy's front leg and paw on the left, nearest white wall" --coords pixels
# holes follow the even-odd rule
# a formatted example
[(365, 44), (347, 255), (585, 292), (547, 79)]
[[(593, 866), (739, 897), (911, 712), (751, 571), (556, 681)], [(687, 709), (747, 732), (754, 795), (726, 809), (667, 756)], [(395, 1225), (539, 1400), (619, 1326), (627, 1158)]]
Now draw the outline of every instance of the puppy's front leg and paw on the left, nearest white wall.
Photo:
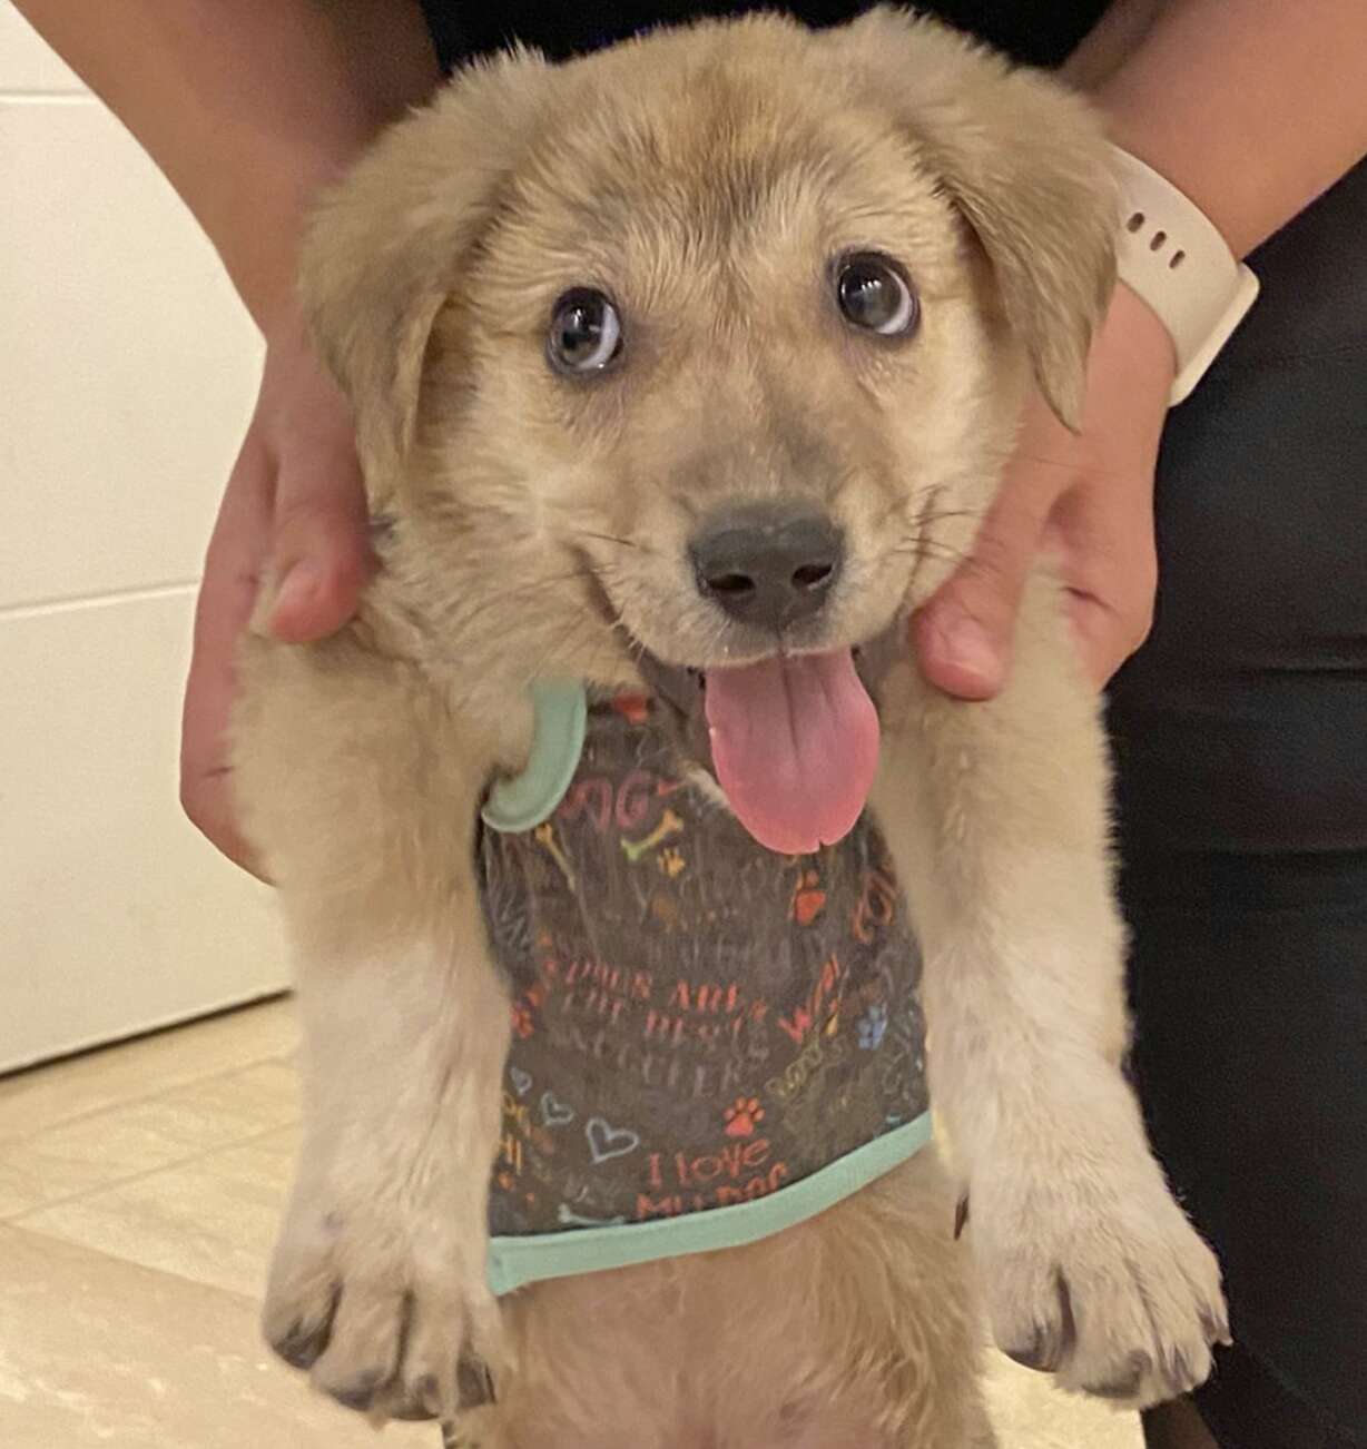
[(304, 1029), (265, 1335), (349, 1407), (454, 1417), (471, 1362), (502, 1368), (487, 1184), (509, 1007), (473, 877), (478, 755), (416, 671), (348, 640), (255, 646), (245, 672), (239, 791)]

